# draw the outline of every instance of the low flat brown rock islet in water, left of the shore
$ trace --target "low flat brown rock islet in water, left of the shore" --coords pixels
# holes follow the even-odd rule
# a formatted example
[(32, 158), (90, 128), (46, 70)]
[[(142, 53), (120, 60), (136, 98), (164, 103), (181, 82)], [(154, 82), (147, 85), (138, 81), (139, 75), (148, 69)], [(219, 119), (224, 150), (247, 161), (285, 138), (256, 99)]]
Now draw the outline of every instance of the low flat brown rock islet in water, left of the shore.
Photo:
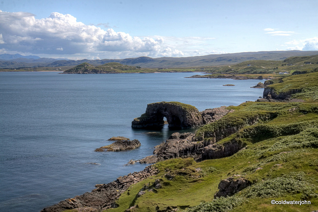
[(95, 149), (95, 151), (122, 151), (122, 150), (131, 150), (141, 146), (141, 143), (135, 139), (133, 141), (130, 140), (120, 140), (115, 141), (110, 145), (102, 146), (100, 148)]

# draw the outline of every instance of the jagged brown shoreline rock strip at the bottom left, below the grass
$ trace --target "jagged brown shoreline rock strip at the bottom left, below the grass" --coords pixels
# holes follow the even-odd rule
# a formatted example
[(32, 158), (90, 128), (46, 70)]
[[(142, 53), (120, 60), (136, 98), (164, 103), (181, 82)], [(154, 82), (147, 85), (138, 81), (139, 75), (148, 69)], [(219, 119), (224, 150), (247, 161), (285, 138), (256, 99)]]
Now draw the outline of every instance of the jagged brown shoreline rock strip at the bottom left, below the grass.
[(115, 207), (115, 201), (131, 185), (158, 173), (158, 169), (155, 169), (153, 166), (147, 166), (143, 171), (118, 177), (117, 180), (108, 184), (97, 184), (95, 185), (96, 189), (91, 192), (61, 201), (56, 205), (43, 209), (41, 212), (62, 212), (87, 207), (92, 208), (92, 210), (96, 209), (96, 211), (106, 210)]

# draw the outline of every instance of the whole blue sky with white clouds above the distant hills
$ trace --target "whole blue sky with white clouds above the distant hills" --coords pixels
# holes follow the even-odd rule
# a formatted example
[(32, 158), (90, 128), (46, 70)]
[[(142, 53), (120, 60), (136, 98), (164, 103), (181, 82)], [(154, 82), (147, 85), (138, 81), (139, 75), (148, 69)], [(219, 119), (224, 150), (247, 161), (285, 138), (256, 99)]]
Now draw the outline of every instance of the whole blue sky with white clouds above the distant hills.
[(318, 50), (318, 0), (0, 0), (0, 54), (190, 57)]

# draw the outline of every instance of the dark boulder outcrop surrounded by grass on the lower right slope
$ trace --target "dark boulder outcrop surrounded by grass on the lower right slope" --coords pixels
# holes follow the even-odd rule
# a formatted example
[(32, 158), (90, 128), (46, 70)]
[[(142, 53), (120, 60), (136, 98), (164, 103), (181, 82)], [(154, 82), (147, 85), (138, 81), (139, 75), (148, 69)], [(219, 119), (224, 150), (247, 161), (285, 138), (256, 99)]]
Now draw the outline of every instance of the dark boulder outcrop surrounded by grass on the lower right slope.
[(221, 180), (218, 186), (219, 191), (214, 195), (214, 198), (233, 196), (250, 185), (251, 183), (245, 178), (234, 179), (229, 177)]

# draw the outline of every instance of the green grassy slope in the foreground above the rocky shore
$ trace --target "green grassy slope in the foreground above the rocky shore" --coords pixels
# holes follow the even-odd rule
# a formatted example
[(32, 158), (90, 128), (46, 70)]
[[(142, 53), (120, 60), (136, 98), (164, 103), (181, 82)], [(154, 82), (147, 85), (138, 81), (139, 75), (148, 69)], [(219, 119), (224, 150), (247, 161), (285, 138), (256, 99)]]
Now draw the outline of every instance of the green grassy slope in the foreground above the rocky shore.
[[(312, 77), (311, 74), (292, 76), (289, 84), (294, 86), (306, 80), (306, 75)], [(316, 89), (317, 85), (312, 87)], [(318, 102), (311, 99), (311, 94), (306, 98), (311, 101), (246, 102), (232, 106), (235, 112), (198, 132), (209, 135), (224, 124), (243, 123), (250, 117), (270, 114), (269, 119), (253, 126), (242, 125), (245, 127), (239, 132), (219, 141), (237, 140), (244, 142), (245, 148), (230, 157), (198, 163), (191, 158), (159, 162), (156, 164), (160, 168), (158, 175), (133, 185), (117, 201), (119, 207), (107, 211), (122, 212), (134, 205), (138, 205), (132, 210), (136, 212), (167, 207), (188, 212), (317, 210)], [(164, 177), (167, 173), (175, 177), (169, 180)], [(214, 200), (219, 182), (231, 176), (244, 177), (252, 186), (232, 197)], [(146, 189), (146, 193), (138, 197), (144, 185), (152, 186), (156, 179), (161, 180), (162, 188)], [(310, 200), (311, 205), (271, 205), (272, 199)]]

